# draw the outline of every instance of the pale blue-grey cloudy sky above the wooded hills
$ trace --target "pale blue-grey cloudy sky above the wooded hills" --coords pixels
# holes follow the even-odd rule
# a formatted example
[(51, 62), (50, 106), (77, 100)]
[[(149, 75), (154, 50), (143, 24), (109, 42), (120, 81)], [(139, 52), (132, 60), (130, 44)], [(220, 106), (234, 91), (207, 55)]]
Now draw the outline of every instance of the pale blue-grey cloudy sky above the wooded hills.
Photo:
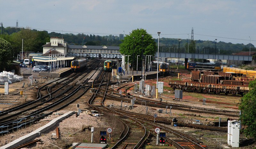
[[(129, 34), (146, 29), (153, 38), (256, 45), (255, 0), (0, 0), (4, 27), (63, 33)], [(81, 39), (83, 40), (83, 39)]]

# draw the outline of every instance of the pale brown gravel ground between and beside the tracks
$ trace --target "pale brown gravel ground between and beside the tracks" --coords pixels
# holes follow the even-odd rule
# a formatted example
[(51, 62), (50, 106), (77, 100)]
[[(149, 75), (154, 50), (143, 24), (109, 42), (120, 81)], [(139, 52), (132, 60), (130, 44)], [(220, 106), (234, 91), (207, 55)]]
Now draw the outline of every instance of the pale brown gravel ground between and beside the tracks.
[[(28, 82), (28, 79), (25, 77), (23, 79), (22, 82), (15, 82), (13, 84), (10, 84), (10, 88), (12, 89), (12, 91), (10, 91), (10, 95), (4, 95), (1, 96), (1, 102), (2, 103), (12, 103), (12, 104), (21, 104), (23, 103), (24, 100), (24, 95), (23, 97), (20, 96), (20, 90), (23, 90), (23, 94), (27, 95), (27, 100), (35, 100), (36, 99), (36, 88), (33, 87), (27, 87), (25, 85), (25, 88), (21, 88), (22, 83)], [(44, 83), (51, 81), (50, 78), (49, 79), (39, 79), (40, 81), (40, 85), (43, 85)], [(138, 84), (138, 82), (137, 82)], [(124, 85), (124, 84), (123, 84)], [(133, 94), (133, 92), (130, 92), (131, 94)], [(176, 103), (176, 104), (184, 104), (184, 105), (189, 105), (189, 106), (198, 106), (198, 107), (207, 107), (207, 108), (212, 108), (212, 109), (225, 109), (225, 110), (232, 110), (234, 112), (238, 112), (237, 109), (233, 109), (233, 108), (225, 108), (223, 107), (223, 105), (217, 105), (217, 104), (207, 104), (206, 105), (202, 105), (202, 102), (199, 102), (198, 100), (201, 99), (201, 95), (200, 94), (200, 98), (196, 97), (196, 98), (190, 98), (190, 96), (196, 94), (196, 93), (184, 93), (185, 96), (188, 96), (188, 99), (186, 99), (187, 102), (185, 101), (173, 101), (172, 100), (172, 96), (173, 94), (170, 92), (168, 93), (167, 91), (161, 96), (161, 98), (163, 98), (164, 102), (170, 102), (170, 103)], [(76, 102), (70, 104), (67, 108), (65, 108), (65, 110), (61, 110), (58, 111), (56, 113), (58, 114), (64, 114), (67, 111), (73, 110), (76, 111), (76, 104), (80, 104), (80, 108), (82, 110), (87, 110), (88, 106), (87, 106), (87, 100), (90, 97), (91, 93), (86, 93), (83, 98), (80, 98), (79, 100), (77, 100)], [(216, 95), (214, 95), (216, 96)], [(150, 98), (150, 99), (154, 99), (154, 98)], [(239, 102), (239, 98), (215, 98), (212, 97), (212, 99), (216, 99), (216, 100), (221, 100), (221, 102), (234, 102), (237, 103)], [(209, 99), (210, 100), (210, 99)], [(106, 100), (105, 101), (105, 105), (114, 105), (115, 108), (120, 108), (121, 106), (121, 102), (117, 102), (117, 101), (111, 101), (111, 100)], [(146, 106), (142, 106), (142, 105), (134, 105), (137, 106), (135, 108), (133, 108), (132, 110), (128, 109), (127, 107), (124, 107), (124, 105), (126, 105), (127, 103), (123, 102), (123, 109), (124, 110), (128, 110), (131, 112), (136, 112), (136, 113), (141, 113), (141, 114), (146, 114)], [(128, 105), (130, 105), (128, 103)], [(3, 105), (0, 104), (0, 111), (10, 108), (14, 105)], [(156, 109), (156, 110), (155, 110)], [(148, 115), (153, 115), (154, 113), (157, 113), (158, 108), (156, 107), (148, 107)], [(204, 123), (204, 124), (209, 124), (211, 122), (214, 121), (218, 121), (218, 118), (221, 117), (223, 119), (227, 118), (225, 116), (221, 116), (221, 115), (212, 115), (212, 114), (198, 114), (195, 113), (196, 116), (189, 116), (187, 114), (194, 114), (191, 112), (186, 112), (186, 111), (181, 111), (181, 110), (173, 110), (172, 109), (172, 114), (170, 114), (170, 109), (167, 110), (168, 114), (165, 114), (165, 109), (163, 111), (163, 114), (159, 114), (157, 113), (157, 115), (159, 117), (166, 117), (166, 118), (172, 118), (172, 117), (177, 117), (177, 119), (180, 121), (184, 121), (184, 122), (195, 122), (195, 120), (200, 120), (200, 122)], [(0, 146), (5, 145), (21, 136), (24, 136), (34, 130), (36, 130), (37, 128), (45, 125), (46, 123), (50, 122), (52, 119), (58, 117), (59, 115), (55, 115), (56, 113), (49, 115), (47, 118), (41, 120), (40, 122), (29, 126), (26, 129), (21, 129), (18, 131), (15, 131), (11, 134), (5, 135), (5, 136), (0, 136)], [(199, 116), (200, 115), (200, 116)], [(89, 142), (90, 141), (90, 137), (91, 137), (91, 132), (85, 131), (85, 132), (77, 132), (78, 130), (80, 130), (82, 128), (83, 125), (86, 126), (93, 126), (95, 128), (107, 128), (107, 127), (111, 127), (108, 125), (107, 121), (105, 119), (102, 119), (102, 117), (94, 117), (90, 115), (90, 112), (86, 112), (84, 111), (83, 113), (80, 114), (80, 116), (78, 116), (77, 118), (75, 117), (75, 115), (70, 116), (69, 118), (63, 120), (62, 122), (58, 123), (56, 125), (56, 127), (59, 127), (60, 129), (60, 134), (61, 134), (61, 139), (60, 140), (51, 140), (51, 135), (52, 133), (56, 133), (56, 127), (48, 130), (47, 132), (45, 132), (41, 137), (38, 137), (41, 139), (41, 142), (37, 142), (36, 145), (30, 146), (29, 148), (53, 148), (54, 145), (57, 145), (59, 147), (63, 147), (63, 145), (67, 145), (73, 142)], [(211, 144), (212, 146), (214, 146), (214, 141), (212, 141), (213, 139), (211, 137), (206, 137), (203, 136), (202, 134), (211, 134), (211, 133), (215, 133), (213, 131), (208, 131), (208, 130), (200, 130), (200, 129), (192, 129), (192, 128), (179, 128), (179, 127), (175, 127), (175, 129), (178, 129), (180, 131), (188, 131), (189, 134), (196, 134), (198, 135), (199, 139), (202, 139), (202, 141), (204, 142), (204, 144)], [(200, 133), (196, 133), (197, 131), (200, 131)], [(77, 132), (75, 136), (69, 137), (70, 134)], [(195, 135), (195, 136), (196, 136)], [(201, 135), (201, 137), (200, 137)], [(223, 134), (223, 136), (225, 136), (226, 133)], [(207, 139), (209, 138), (209, 139)], [(54, 145), (52, 145), (54, 144)], [(56, 148), (56, 147), (55, 147)]]

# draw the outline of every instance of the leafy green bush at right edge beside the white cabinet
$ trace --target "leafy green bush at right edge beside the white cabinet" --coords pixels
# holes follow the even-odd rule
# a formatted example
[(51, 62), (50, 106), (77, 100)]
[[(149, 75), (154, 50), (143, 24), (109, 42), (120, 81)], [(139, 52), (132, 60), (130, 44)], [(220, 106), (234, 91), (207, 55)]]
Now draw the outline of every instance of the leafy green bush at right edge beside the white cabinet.
[(249, 83), (251, 89), (241, 99), (239, 109), (241, 110), (241, 124), (244, 127), (242, 130), (246, 136), (254, 137), (256, 139), (256, 81)]

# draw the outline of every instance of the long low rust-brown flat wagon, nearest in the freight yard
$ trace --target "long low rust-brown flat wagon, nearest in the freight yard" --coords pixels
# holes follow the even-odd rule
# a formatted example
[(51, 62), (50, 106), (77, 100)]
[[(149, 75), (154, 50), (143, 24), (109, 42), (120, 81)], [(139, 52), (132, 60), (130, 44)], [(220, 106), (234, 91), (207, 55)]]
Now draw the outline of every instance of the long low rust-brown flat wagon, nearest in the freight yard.
[(232, 95), (241, 95), (249, 91), (248, 86), (236, 86), (236, 85), (226, 85), (226, 84), (209, 84), (209, 83), (200, 83), (200, 82), (187, 82), (187, 81), (172, 81), (169, 80), (170, 87), (175, 89), (181, 89), (184, 91), (191, 90), (192, 92), (200, 91), (204, 93), (212, 92), (214, 94), (229, 93)]

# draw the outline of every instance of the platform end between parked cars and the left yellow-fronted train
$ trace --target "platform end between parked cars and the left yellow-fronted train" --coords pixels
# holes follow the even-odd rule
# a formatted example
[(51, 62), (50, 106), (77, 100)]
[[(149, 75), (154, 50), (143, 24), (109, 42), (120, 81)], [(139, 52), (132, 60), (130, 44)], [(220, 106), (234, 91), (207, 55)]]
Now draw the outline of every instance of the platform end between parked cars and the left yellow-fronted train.
[(70, 67), (64, 67), (64, 68), (61, 68), (61, 69), (58, 69), (58, 70), (55, 70), (52, 72), (41, 71), (41, 72), (39, 72), (39, 76), (47, 76), (50, 78), (56, 78), (56, 77), (63, 77), (70, 72), (71, 72)]

